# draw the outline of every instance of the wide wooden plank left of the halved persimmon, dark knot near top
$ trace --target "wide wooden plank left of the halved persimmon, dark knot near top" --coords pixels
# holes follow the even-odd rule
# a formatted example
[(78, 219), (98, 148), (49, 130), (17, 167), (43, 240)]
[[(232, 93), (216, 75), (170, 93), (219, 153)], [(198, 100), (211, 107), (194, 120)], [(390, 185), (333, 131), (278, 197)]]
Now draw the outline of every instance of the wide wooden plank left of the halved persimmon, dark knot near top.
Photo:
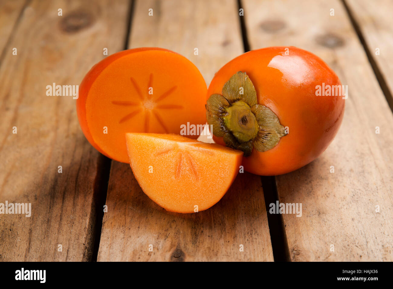
[(79, 85), (104, 47), (121, 50), (128, 7), (37, 0), (24, 10), (6, 47), (18, 54), (0, 67), (0, 202), (31, 203), (31, 217), (0, 215), (0, 260), (91, 259), (101, 156), (79, 128), (73, 97), (47, 96), (46, 86)]

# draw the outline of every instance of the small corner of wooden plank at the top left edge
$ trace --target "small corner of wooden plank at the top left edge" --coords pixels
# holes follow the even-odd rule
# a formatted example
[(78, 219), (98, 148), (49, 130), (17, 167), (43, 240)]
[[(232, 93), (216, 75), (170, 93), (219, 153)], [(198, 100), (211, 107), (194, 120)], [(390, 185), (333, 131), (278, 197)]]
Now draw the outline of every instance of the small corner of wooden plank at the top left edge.
[[(25, 5), (26, 0), (0, 2), (0, 53), (4, 50), (7, 41), (9, 41), (13, 29), (16, 28), (18, 18)], [(9, 52), (12, 53), (12, 48)]]

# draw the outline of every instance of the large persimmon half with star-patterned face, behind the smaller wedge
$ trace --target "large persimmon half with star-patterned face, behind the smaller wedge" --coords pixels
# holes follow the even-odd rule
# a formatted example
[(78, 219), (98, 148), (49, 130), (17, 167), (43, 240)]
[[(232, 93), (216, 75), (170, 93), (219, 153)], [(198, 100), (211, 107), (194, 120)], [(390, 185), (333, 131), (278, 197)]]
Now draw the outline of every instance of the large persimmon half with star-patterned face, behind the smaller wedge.
[(108, 56), (86, 74), (77, 114), (90, 144), (128, 162), (125, 133), (179, 134), (187, 122), (204, 124), (206, 91), (198, 68), (182, 55), (162, 48), (130, 49)]

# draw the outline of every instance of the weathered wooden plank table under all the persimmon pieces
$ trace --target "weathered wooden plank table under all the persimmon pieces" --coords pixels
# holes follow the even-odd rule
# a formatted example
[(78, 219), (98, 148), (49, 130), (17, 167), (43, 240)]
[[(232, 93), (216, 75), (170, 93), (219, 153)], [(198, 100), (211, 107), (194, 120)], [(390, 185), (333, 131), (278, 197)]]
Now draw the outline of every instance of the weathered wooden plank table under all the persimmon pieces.
[[(388, 0), (1, 1), (0, 202), (30, 202), (32, 213), (0, 215), (0, 260), (392, 261), (392, 9)], [(209, 84), (245, 50), (276, 45), (315, 53), (348, 85), (340, 131), (311, 164), (239, 174), (197, 214), (152, 202), (129, 165), (87, 142), (75, 100), (46, 95), (52, 83), (78, 85), (105, 48), (174, 50)], [(266, 212), (277, 200), (302, 203), (302, 217)]]

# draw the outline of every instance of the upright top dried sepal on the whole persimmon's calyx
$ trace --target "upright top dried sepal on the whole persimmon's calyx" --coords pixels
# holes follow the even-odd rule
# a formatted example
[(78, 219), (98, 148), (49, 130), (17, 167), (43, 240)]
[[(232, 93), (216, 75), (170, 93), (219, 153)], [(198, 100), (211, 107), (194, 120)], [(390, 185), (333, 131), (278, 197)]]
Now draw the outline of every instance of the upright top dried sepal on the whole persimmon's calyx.
[[(241, 94), (242, 93), (242, 94)], [(257, 92), (250, 77), (245, 72), (237, 72), (225, 83), (222, 88), (222, 96), (229, 103), (242, 100), (250, 107), (257, 104)]]

